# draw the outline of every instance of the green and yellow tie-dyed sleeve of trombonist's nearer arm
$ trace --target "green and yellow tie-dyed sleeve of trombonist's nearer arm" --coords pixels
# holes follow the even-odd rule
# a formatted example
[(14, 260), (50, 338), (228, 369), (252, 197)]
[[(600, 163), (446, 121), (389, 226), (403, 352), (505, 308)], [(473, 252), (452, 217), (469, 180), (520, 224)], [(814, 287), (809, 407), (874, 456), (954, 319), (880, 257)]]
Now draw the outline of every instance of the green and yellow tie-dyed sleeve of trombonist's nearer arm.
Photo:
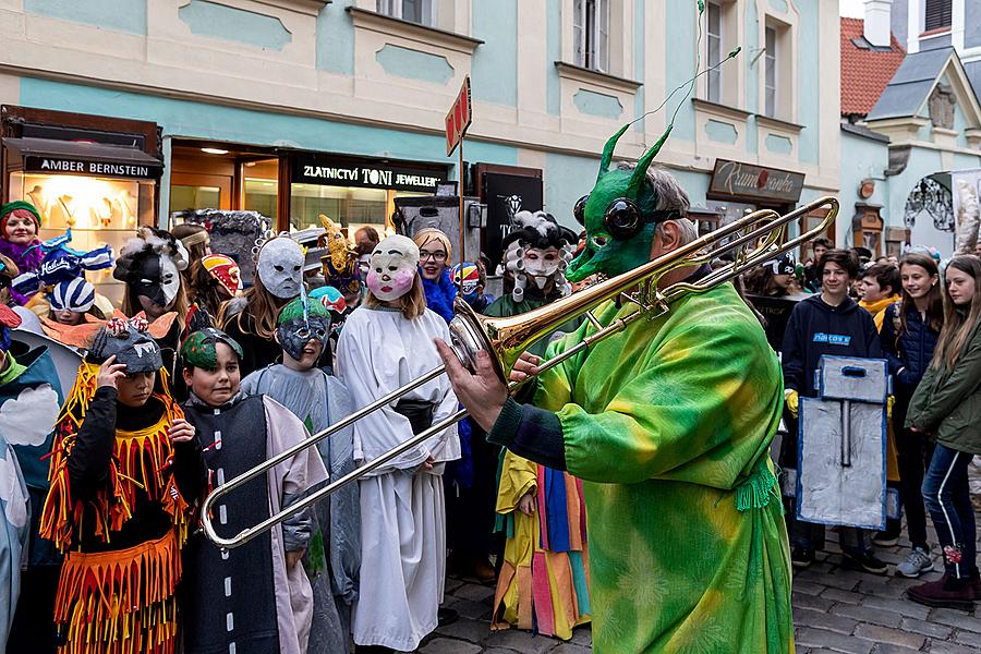
[(734, 487), (768, 446), (783, 399), (776, 356), (749, 328), (679, 327), (604, 411), (566, 404), (558, 416), (569, 473)]

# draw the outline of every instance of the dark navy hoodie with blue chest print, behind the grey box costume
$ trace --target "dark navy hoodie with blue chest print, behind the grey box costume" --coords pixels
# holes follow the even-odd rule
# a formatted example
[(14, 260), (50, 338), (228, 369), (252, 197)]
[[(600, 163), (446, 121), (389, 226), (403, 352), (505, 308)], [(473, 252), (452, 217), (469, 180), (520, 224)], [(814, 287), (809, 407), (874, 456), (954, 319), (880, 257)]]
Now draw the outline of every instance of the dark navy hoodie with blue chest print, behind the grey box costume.
[(851, 298), (838, 306), (825, 304), (820, 294), (798, 302), (784, 332), (784, 387), (803, 397), (816, 397), (814, 371), (823, 354), (881, 358), (872, 314)]

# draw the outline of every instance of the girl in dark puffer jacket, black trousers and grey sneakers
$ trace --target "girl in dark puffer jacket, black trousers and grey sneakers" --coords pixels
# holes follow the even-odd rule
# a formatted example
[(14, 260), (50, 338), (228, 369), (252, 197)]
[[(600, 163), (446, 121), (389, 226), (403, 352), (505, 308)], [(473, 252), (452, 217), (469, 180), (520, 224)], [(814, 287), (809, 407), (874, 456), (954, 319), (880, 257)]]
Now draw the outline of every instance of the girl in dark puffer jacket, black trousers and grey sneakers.
[[(899, 493), (906, 510), (910, 552), (896, 566), (904, 577), (919, 577), (933, 570), (927, 544), (927, 509), (923, 505), (923, 473), (930, 467), (933, 444), (921, 432), (905, 428), (909, 401), (930, 366), (936, 339), (944, 324), (944, 305), (936, 262), (924, 254), (910, 253), (899, 263), (903, 298), (884, 313), (880, 339), (893, 375), (893, 434), (899, 463)], [(894, 534), (898, 536), (896, 530)]]

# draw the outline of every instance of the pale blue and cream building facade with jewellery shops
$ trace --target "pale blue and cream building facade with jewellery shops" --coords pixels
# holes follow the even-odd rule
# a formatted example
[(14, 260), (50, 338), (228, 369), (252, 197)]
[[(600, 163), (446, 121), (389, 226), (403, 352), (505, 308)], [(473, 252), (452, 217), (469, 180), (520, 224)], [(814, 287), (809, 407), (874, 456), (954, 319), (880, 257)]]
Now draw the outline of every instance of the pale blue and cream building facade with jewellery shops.
[[(131, 215), (147, 220), (146, 210), (112, 213), (125, 192), (149, 193), (142, 202), (162, 227), (205, 207), (258, 210), (280, 229), (315, 225), (318, 214), (385, 226), (396, 197), (460, 180), (444, 126), (467, 75), (462, 177), (489, 207), (488, 230), (508, 208), (540, 204), (574, 228), (572, 206), (596, 179), (604, 142), (646, 114), (617, 148), (635, 159), (676, 110), (658, 160), (710, 227), (835, 194), (838, 60), (823, 47), (838, 34), (834, 3), (711, 0), (701, 16), (698, 4), (0, 0), (0, 104), (14, 125), (4, 140), (17, 140), (4, 148), (2, 194), (46, 194), (62, 222), (95, 240), (100, 229), (128, 231)], [(687, 81), (712, 64), (687, 97)], [(105, 144), (128, 125), (156, 125), (162, 170), (110, 175), (116, 185), (86, 206), (84, 189), (48, 193), (53, 173), (31, 168), (45, 153), (25, 143), (51, 136), (41, 119), (71, 123), (55, 134), (65, 142)], [(109, 167), (99, 170), (124, 170), (113, 153), (93, 156)]]

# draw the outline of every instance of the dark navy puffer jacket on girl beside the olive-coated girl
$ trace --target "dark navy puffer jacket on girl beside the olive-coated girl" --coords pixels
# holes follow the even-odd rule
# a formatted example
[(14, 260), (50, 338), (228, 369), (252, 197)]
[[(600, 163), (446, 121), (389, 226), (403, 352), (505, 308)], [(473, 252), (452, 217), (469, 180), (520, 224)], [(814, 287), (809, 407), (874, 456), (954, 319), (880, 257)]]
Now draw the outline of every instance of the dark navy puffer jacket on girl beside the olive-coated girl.
[(899, 307), (898, 302), (886, 307), (880, 337), (882, 351), (889, 360), (889, 374), (895, 382), (893, 390), (896, 399), (908, 402), (917, 389), (917, 384), (930, 367), (940, 332), (935, 331), (929, 322), (923, 322), (912, 303), (906, 311), (906, 331), (899, 331), (897, 329)]

